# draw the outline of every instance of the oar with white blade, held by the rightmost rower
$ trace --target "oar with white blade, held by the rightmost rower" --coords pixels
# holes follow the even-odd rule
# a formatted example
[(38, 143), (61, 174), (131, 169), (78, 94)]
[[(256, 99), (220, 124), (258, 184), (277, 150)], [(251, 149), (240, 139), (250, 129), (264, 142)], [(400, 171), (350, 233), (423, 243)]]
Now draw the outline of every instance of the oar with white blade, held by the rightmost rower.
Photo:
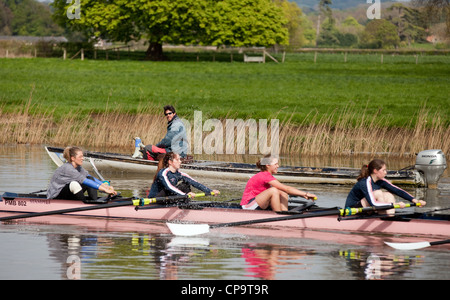
[[(411, 206), (420, 206), (420, 203), (411, 203), (406, 204), (405, 207)], [(257, 219), (257, 220), (246, 220), (239, 222), (231, 222), (231, 223), (220, 223), (220, 224), (186, 224), (186, 223), (170, 223), (167, 222), (167, 226), (170, 231), (174, 235), (182, 235), (182, 236), (193, 236), (200, 235), (204, 233), (208, 233), (210, 229), (219, 228), (219, 227), (230, 227), (230, 226), (241, 226), (241, 225), (249, 225), (249, 224), (259, 224), (259, 223), (268, 223), (268, 222), (278, 222), (278, 221), (287, 221), (287, 220), (295, 220), (295, 219), (306, 219), (306, 218), (316, 218), (316, 217), (325, 217), (325, 216), (350, 216), (354, 214), (359, 214), (363, 212), (372, 212), (377, 210), (387, 210), (392, 208), (400, 208), (398, 204), (390, 204), (383, 205), (379, 207), (370, 206), (364, 208), (346, 208), (346, 209), (328, 209), (328, 210), (319, 210), (316, 212), (310, 212), (306, 214), (296, 214), (289, 215), (284, 217), (274, 217), (274, 218), (265, 218), (265, 219)]]

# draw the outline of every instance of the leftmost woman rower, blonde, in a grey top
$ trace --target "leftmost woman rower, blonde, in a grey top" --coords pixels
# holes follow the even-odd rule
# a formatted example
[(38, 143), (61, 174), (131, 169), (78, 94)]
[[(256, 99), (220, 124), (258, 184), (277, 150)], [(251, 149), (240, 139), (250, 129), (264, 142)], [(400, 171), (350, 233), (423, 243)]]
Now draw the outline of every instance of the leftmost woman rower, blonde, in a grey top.
[(88, 199), (96, 200), (97, 190), (117, 195), (112, 186), (92, 177), (81, 166), (83, 164), (81, 148), (66, 147), (63, 156), (67, 162), (53, 174), (47, 190), (47, 199), (86, 200), (84, 192), (88, 191)]

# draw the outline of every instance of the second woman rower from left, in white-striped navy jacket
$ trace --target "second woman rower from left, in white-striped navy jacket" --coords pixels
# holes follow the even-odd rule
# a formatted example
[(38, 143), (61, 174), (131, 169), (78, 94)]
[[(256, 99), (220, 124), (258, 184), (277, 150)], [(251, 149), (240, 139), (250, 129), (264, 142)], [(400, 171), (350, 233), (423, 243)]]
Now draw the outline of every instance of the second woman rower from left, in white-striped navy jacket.
[(159, 162), (158, 171), (154, 177), (148, 197), (153, 198), (186, 194), (194, 197), (195, 194), (191, 192), (191, 186), (205, 193), (213, 192), (214, 195), (219, 194), (218, 190), (211, 190), (194, 180), (188, 174), (180, 172), (180, 167), (180, 155), (174, 152), (166, 153)]

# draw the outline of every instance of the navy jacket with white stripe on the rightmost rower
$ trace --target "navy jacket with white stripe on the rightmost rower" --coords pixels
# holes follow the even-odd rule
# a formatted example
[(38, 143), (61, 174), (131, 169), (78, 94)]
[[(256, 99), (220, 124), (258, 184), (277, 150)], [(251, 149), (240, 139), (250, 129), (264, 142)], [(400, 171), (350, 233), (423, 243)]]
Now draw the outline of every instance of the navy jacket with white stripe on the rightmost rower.
[(353, 186), (345, 201), (345, 207), (355, 207), (363, 198), (366, 198), (371, 206), (386, 205), (386, 203), (377, 202), (373, 195), (373, 191), (380, 190), (381, 188), (384, 188), (405, 200), (411, 201), (414, 199), (409, 193), (393, 185), (389, 181), (380, 179), (377, 182), (374, 182), (372, 177), (369, 176), (361, 179)]

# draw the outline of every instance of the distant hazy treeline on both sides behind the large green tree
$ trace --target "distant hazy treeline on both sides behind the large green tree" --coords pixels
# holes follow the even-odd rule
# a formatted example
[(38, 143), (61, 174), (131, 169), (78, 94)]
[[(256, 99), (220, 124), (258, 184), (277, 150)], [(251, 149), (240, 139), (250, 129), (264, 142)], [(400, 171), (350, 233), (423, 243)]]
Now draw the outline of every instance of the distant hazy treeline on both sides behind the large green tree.
[[(450, 11), (448, 1), (447, 9), (433, 13), (433, 21), (430, 20), (426, 8), (409, 3), (383, 3), (381, 19), (369, 20), (366, 16), (368, 4), (364, 5), (365, 1), (360, 1), (361, 5), (352, 9), (332, 10), (336, 5), (352, 3), (352, 0), (309, 0), (308, 3), (317, 3), (319, 11), (309, 11), (308, 14), (299, 8), (298, 1), (272, 2), (281, 9), (286, 19), (284, 27), (289, 36), (287, 50), (302, 47), (397, 49), (429, 42), (435, 44), (435, 48), (443, 49), (449, 42), (445, 26), (445, 11)], [(65, 0), (62, 3), (68, 5)], [(53, 6), (37, 0), (0, 0), (0, 35), (64, 35), (77, 42), (92, 37), (86, 36), (86, 32), (76, 32), (74, 28), (64, 29), (61, 24), (58, 25), (53, 15), (57, 12)], [(83, 8), (85, 12), (88, 9), (90, 8)], [(64, 23), (67, 23), (65, 10), (62, 11)], [(92, 35), (92, 30), (87, 32)]]

